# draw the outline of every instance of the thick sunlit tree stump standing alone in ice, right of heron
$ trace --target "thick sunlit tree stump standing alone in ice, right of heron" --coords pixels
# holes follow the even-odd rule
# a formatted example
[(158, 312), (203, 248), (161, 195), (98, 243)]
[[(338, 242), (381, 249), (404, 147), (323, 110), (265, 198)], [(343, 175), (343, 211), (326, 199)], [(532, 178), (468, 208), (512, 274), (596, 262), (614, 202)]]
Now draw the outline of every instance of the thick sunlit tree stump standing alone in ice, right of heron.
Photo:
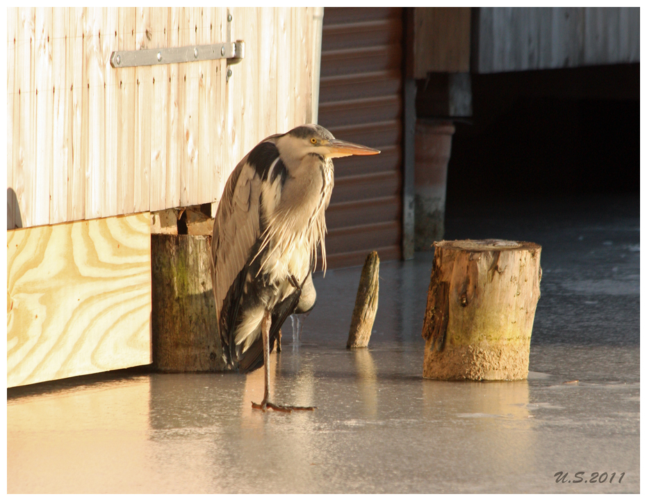
[(541, 246), (459, 240), (435, 242), (434, 247), (423, 376), (526, 379)]

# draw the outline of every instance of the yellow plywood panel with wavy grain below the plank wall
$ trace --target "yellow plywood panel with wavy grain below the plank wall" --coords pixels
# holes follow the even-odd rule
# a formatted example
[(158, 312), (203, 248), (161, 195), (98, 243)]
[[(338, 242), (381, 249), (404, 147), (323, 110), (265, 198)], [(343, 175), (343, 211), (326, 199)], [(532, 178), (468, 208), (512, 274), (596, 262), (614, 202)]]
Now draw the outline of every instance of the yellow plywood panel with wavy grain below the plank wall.
[(7, 384), (151, 363), (150, 215), (7, 234)]

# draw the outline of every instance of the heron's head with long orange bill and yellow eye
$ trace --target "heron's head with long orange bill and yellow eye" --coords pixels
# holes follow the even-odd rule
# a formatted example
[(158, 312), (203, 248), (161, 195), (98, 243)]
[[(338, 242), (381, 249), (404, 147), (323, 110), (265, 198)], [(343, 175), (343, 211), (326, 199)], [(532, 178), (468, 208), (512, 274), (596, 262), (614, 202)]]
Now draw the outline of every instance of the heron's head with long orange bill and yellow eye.
[[(285, 134), (281, 146), (289, 148), (290, 154), (303, 158), (307, 154), (320, 154), (325, 158), (350, 157), (350, 155), (378, 154), (379, 150), (368, 146), (348, 143), (335, 139), (327, 129), (320, 125), (300, 125)], [(279, 146), (279, 150), (281, 147)], [(283, 152), (281, 152), (283, 154)]]

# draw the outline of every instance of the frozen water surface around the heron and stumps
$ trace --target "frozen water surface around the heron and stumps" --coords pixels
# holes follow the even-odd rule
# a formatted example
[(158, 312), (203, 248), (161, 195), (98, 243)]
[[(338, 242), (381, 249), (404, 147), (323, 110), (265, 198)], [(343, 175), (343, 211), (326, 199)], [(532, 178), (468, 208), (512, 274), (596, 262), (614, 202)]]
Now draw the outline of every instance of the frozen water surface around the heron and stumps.
[(525, 208), (454, 212), (446, 237), (543, 246), (527, 381), (423, 379), (430, 253), (381, 264), (369, 349), (345, 349), (361, 268), (329, 271), (271, 363), (275, 401), (316, 411), (253, 410), (262, 371), (13, 388), (8, 492), (638, 493), (638, 198)]

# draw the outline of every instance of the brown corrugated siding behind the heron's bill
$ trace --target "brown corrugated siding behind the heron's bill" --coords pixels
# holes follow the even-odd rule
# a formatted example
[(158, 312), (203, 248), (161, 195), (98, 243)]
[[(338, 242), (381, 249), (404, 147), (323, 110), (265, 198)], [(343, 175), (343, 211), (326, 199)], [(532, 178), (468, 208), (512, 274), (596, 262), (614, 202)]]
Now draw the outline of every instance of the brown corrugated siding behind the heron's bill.
[(319, 123), (382, 151), (335, 160), (329, 268), (402, 256), (402, 8), (326, 8)]

